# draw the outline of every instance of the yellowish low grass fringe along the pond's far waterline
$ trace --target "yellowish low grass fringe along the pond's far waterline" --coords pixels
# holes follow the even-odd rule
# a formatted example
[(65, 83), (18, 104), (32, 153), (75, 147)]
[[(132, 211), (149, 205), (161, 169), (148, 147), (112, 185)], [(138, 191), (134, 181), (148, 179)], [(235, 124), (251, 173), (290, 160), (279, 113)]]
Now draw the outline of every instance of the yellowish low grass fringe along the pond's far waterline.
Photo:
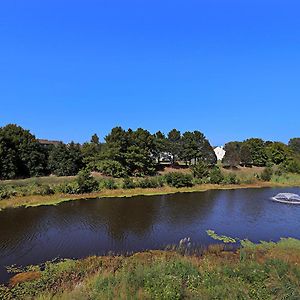
[[(244, 174), (243, 174), (244, 176)], [(35, 186), (36, 181), (40, 180), (43, 183), (48, 183), (47, 179), (53, 182), (70, 182), (74, 178), (42, 178), (42, 179), (25, 179), (15, 181), (15, 185), (18, 187), (32, 187)], [(120, 180), (119, 180), (120, 181)], [(8, 185), (1, 183), (2, 186)], [(11, 184), (11, 183), (9, 183)], [(32, 185), (33, 184), (33, 185)], [(38, 185), (39, 186), (39, 185)], [(120, 185), (119, 185), (120, 186)], [(64, 194), (64, 193), (54, 193), (51, 195), (21, 195), (13, 196), (9, 199), (0, 200), (0, 210), (5, 208), (15, 208), (20, 206), (30, 207), (30, 206), (40, 206), (40, 205), (56, 205), (65, 201), (72, 201), (78, 199), (86, 198), (104, 198), (104, 197), (132, 197), (138, 195), (164, 195), (172, 193), (185, 193), (185, 192), (201, 192), (207, 190), (215, 189), (241, 189), (241, 188), (263, 188), (263, 187), (289, 187), (289, 186), (300, 186), (300, 175), (297, 174), (284, 174), (281, 176), (273, 175), (272, 180), (269, 182), (262, 182), (259, 180), (247, 180), (242, 181), (239, 184), (196, 184), (193, 187), (182, 187), (175, 188), (170, 186), (162, 186), (157, 188), (132, 188), (124, 189), (117, 187), (116, 189), (103, 188), (100, 191), (88, 193), (88, 194)]]

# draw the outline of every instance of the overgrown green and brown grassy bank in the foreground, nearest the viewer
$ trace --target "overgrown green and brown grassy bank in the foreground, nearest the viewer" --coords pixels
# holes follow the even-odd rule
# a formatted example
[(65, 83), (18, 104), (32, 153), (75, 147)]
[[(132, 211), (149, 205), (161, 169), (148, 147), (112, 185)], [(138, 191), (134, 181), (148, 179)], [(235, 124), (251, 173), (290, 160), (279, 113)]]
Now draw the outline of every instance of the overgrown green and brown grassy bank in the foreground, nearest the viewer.
[(31, 266), (0, 287), (0, 299), (300, 299), (300, 241), (201, 256), (149, 251)]

